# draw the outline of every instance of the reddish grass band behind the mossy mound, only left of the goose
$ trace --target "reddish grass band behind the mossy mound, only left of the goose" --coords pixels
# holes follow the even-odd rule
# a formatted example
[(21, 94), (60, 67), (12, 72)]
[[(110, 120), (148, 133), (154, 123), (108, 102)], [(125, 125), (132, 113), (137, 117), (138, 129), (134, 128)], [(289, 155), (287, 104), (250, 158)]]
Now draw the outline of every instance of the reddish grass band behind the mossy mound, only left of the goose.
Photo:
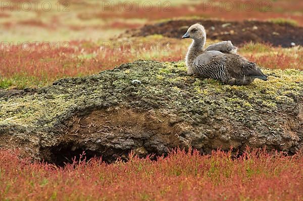
[[(146, 44), (148, 46), (149, 43)], [(0, 51), (2, 57), (0, 74), (3, 78), (17, 80), (17, 83), (2, 84), (5, 88), (14, 87), (14, 85), (22, 88), (23, 86), (35, 87), (51, 84), (60, 78), (99, 73), (125, 62), (146, 58), (146, 56), (148, 59), (158, 61), (173, 61), (183, 58), (181, 49), (171, 50), (173, 56), (172, 52), (162, 54), (163, 52), (159, 51), (154, 51), (155, 55), (149, 55), (147, 46), (145, 47), (147, 51), (142, 46), (138, 46), (135, 51), (133, 48), (131, 48), (132, 51), (129, 51), (130, 49), (124, 43), (121, 46), (118, 43), (119, 48), (114, 49), (112, 47), (102, 49), (100, 45), (87, 41), (71, 41), (60, 45), (56, 43), (51, 46), (48, 43), (43, 45), (40, 43), (37, 46), (28, 45), (28, 43), (25, 43), (25, 46), (14, 45), (17, 47), (10, 46)], [(30, 51), (24, 51), (24, 49), (30, 49)], [(21, 86), (19, 82), (22, 83)]]

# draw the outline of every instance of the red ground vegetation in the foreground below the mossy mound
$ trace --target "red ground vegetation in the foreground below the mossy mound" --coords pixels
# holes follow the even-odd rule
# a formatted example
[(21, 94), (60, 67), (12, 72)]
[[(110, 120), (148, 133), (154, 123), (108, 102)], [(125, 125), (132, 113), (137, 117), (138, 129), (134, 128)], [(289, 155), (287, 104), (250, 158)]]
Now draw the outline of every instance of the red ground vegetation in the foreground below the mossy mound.
[(106, 164), (84, 158), (64, 168), (0, 151), (0, 199), (10, 200), (302, 200), (303, 154), (264, 150), (238, 158), (214, 151)]

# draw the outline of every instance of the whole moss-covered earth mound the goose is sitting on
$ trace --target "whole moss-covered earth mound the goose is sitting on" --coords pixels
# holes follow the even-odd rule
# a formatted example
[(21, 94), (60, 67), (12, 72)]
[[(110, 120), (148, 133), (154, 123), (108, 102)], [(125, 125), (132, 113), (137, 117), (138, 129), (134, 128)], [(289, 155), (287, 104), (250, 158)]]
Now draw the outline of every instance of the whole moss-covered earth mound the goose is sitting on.
[(263, 71), (267, 82), (227, 86), (188, 76), (184, 61), (138, 60), (3, 96), (0, 147), (57, 165), (83, 151), (108, 162), (190, 146), (295, 153), (303, 144), (303, 72)]

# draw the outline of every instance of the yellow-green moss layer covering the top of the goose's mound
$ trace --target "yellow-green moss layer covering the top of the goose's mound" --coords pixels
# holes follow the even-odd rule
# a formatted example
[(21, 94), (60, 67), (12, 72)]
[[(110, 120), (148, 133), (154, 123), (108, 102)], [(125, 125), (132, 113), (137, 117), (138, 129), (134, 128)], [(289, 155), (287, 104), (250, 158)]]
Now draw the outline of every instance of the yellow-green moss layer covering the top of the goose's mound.
[[(291, 111), (303, 96), (303, 72), (263, 70), (267, 82), (229, 86), (212, 79), (188, 76), (184, 61), (138, 60), (119, 68), (83, 78), (62, 79), (37, 93), (0, 98), (0, 125), (49, 126), (76, 112), (124, 105), (173, 108), (180, 118), (229, 118), (245, 120), (261, 113)], [(133, 85), (132, 80), (142, 84)], [(134, 101), (135, 100), (135, 101)], [(250, 122), (250, 121), (249, 121)], [(274, 121), (273, 121), (274, 122)], [(250, 124), (250, 123), (248, 123)]]

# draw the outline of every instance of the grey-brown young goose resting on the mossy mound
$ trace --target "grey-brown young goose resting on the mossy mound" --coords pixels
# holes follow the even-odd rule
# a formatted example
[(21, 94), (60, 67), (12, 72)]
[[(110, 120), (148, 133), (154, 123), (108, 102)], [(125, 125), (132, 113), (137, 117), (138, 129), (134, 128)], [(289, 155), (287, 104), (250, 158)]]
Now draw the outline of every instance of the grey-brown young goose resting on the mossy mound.
[(186, 55), (187, 73), (190, 75), (196, 74), (203, 78), (217, 79), (229, 85), (248, 85), (256, 78), (267, 80), (267, 76), (262, 73), (256, 63), (231, 53), (233, 49), (215, 46), (215, 50), (212, 48), (204, 50), (206, 32), (200, 24), (189, 27), (182, 38), (193, 39)]

